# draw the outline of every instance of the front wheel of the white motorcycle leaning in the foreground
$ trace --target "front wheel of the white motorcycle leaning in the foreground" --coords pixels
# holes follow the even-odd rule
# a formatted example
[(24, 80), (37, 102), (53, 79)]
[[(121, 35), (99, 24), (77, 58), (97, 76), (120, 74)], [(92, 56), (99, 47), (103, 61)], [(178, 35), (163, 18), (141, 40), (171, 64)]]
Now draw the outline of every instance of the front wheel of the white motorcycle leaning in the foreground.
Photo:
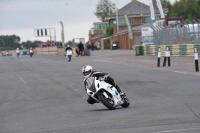
[(114, 110), (114, 101), (109, 98), (106, 98), (103, 94), (99, 95), (99, 100), (105, 105), (108, 109)]

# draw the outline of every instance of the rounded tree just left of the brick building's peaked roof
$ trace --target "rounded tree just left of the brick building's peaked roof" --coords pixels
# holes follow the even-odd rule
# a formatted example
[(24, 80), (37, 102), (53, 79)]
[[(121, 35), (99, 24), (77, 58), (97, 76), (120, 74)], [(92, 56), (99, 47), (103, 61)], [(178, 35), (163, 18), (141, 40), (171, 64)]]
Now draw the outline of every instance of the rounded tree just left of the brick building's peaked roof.
[(109, 0), (100, 0), (96, 5), (96, 12), (94, 12), (94, 14), (97, 16), (98, 19), (104, 22), (106, 17), (109, 16), (109, 12), (113, 13), (114, 10), (114, 3)]

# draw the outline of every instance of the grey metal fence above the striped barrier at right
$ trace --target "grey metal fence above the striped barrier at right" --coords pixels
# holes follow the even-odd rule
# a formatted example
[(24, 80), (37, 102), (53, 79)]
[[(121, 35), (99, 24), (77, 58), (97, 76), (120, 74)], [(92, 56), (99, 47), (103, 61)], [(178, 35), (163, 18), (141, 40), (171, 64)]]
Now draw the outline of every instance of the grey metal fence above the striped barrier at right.
[(173, 45), (173, 44), (200, 44), (200, 24), (166, 26), (159, 24), (151, 26), (153, 36), (140, 36), (134, 38), (136, 45)]

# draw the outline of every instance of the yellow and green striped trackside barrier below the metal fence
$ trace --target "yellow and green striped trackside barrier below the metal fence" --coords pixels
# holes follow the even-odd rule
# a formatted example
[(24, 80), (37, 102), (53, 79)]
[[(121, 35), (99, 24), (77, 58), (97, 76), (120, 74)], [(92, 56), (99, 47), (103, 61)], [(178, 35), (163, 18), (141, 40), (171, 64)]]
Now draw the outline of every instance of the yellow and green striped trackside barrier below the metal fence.
[[(158, 49), (161, 49), (161, 56), (165, 55), (166, 47), (169, 47), (171, 56), (194, 56), (194, 47), (200, 51), (200, 44), (174, 44), (174, 45), (146, 45), (135, 46), (136, 56), (157, 55)], [(198, 53), (200, 55), (200, 52)]]

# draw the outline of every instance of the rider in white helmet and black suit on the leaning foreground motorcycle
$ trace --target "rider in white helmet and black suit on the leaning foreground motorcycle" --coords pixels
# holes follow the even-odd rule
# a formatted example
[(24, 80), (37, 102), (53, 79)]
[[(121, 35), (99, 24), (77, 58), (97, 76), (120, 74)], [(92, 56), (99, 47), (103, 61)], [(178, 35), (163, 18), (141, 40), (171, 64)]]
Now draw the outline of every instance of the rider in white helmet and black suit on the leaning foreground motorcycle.
[[(82, 68), (82, 73), (83, 73), (83, 76), (84, 76), (84, 86), (86, 86), (86, 79), (89, 78), (89, 77), (97, 77), (97, 78), (104, 78), (104, 81), (113, 85), (117, 91), (119, 92), (119, 94), (121, 96), (124, 96), (125, 93), (122, 92), (122, 90), (119, 88), (119, 86), (115, 83), (114, 79), (112, 77), (110, 77), (110, 75), (108, 75), (108, 73), (104, 73), (104, 72), (99, 72), (99, 71), (93, 71), (92, 70), (92, 66), (90, 65), (86, 65)], [(87, 99), (87, 102), (89, 104), (94, 104), (96, 103), (96, 101), (94, 99), (92, 99), (90, 96), (88, 97)]]

